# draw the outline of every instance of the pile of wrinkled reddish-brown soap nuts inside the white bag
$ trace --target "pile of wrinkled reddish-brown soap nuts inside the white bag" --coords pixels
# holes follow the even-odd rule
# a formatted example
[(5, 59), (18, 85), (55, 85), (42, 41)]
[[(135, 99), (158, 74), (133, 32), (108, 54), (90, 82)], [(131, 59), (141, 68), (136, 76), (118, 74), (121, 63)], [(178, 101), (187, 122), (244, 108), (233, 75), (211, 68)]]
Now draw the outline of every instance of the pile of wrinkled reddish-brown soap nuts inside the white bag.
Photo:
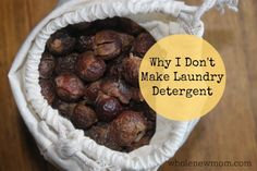
[(155, 42), (125, 17), (69, 25), (46, 44), (38, 68), (41, 94), (99, 145), (124, 152), (147, 145), (156, 112), (140, 94), (138, 70)]

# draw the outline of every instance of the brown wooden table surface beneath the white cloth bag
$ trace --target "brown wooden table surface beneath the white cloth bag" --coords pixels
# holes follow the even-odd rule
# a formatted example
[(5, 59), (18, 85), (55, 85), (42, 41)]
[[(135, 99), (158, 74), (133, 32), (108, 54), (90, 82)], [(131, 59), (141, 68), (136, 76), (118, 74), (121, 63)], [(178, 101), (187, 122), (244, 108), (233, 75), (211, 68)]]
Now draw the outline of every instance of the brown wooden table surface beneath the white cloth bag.
[[(22, 121), (8, 83), (11, 63), (26, 35), (56, 0), (0, 1), (0, 171), (57, 170), (39, 154)], [(257, 1), (242, 0), (240, 12), (209, 12), (205, 38), (222, 54), (227, 88), (175, 157), (160, 171), (257, 170)], [(252, 167), (172, 167), (172, 161), (252, 161)]]

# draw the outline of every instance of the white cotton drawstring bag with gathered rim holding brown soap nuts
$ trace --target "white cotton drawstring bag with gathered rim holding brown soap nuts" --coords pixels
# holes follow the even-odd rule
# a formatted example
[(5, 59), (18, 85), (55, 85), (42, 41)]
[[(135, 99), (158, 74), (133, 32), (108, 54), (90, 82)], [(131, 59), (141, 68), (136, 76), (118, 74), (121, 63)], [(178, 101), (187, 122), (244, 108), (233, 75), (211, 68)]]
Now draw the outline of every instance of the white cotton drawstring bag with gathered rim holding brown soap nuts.
[(200, 7), (174, 0), (60, 0), (29, 34), (9, 73), (14, 99), (41, 155), (63, 170), (157, 170), (174, 156), (198, 121), (179, 122), (157, 115), (150, 144), (130, 154), (96, 144), (52, 109), (40, 94), (38, 64), (52, 33), (68, 24), (125, 16), (157, 40), (173, 34), (203, 36), (200, 16), (206, 11), (215, 5), (236, 10), (236, 0), (205, 0)]

